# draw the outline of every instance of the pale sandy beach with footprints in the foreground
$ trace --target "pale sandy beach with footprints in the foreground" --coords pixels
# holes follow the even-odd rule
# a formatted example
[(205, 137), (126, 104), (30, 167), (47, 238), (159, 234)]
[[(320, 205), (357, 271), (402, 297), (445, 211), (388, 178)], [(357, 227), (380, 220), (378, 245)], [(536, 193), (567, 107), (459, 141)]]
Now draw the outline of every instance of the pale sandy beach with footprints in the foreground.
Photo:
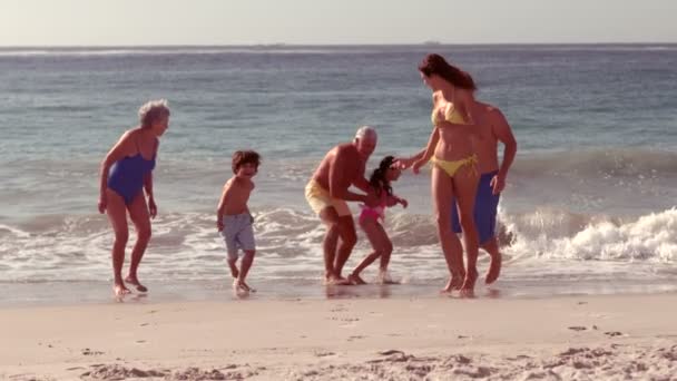
[(663, 294), (3, 309), (0, 378), (669, 380), (676, 302)]

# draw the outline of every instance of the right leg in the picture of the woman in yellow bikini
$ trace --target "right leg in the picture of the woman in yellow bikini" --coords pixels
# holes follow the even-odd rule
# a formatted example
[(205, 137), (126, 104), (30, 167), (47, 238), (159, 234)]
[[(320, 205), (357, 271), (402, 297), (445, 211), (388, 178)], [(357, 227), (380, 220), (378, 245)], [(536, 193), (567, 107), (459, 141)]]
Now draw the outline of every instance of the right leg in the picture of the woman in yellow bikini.
[(459, 218), (463, 229), (463, 242), (468, 255), (468, 270), (461, 290), (472, 292), (478, 279), (479, 237), (474, 224), (474, 199), (477, 197), (479, 176), (472, 165), (461, 167), (453, 177), (453, 187), (457, 195)]

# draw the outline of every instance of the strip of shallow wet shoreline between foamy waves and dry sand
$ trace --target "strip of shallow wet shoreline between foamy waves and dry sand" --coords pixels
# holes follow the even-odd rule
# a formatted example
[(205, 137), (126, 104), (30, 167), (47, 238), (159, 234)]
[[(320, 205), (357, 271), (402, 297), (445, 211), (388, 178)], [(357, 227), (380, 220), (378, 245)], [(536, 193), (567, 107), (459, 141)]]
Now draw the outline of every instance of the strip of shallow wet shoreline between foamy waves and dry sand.
[[(462, 297), (459, 292), (440, 293), (443, 280), (436, 283), (402, 283), (394, 285), (324, 285), (293, 282), (249, 282), (257, 291), (248, 295), (236, 295), (230, 281), (216, 282), (148, 282), (147, 293), (134, 291), (118, 300), (112, 294), (111, 282), (68, 281), (40, 283), (4, 283), (0, 296), (0, 311), (33, 307), (73, 307), (109, 304), (159, 305), (168, 303), (234, 303), (234, 302), (284, 302), (284, 301), (377, 301), (377, 300), (481, 300), (522, 301), (558, 300), (566, 297), (635, 297), (651, 295), (677, 295), (677, 285), (666, 282), (646, 284), (620, 282), (585, 283), (559, 280), (558, 285), (541, 282), (500, 281), (497, 284), (478, 283), (472, 297)], [(513, 283), (518, 283), (517, 285)]]

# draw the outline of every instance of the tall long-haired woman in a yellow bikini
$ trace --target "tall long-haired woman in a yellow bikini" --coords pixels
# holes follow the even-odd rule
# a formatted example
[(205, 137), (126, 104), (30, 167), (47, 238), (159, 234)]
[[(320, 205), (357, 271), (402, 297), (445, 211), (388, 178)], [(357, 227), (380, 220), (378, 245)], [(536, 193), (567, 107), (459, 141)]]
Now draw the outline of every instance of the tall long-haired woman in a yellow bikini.
[[(448, 63), (439, 55), (428, 55), (419, 65), (423, 82), (432, 89), (433, 129), (423, 155), (413, 164), (414, 174), (432, 162), (432, 196), (435, 203), (438, 235), (451, 274), (450, 292), (460, 289), (472, 293), (478, 277), (478, 232), (473, 207), (479, 182), (473, 139), (479, 137), (470, 109), (475, 85), (472, 77)], [(463, 247), (453, 233), (449, 211), (457, 198), (468, 254), (463, 266)]]

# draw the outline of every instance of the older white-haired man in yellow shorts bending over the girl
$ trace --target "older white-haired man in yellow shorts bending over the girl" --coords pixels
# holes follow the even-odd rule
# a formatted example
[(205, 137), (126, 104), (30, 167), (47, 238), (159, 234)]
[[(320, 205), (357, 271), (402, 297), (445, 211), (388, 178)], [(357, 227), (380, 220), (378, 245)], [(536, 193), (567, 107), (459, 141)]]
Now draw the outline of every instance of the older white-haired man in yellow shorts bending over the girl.
[[(376, 147), (376, 140), (375, 129), (361, 127), (352, 143), (337, 145), (324, 156), (305, 187), (306, 201), (327, 226), (322, 243), (327, 284), (349, 284), (341, 272), (357, 238), (346, 202), (363, 202), (370, 206), (377, 204), (364, 178), (366, 162)], [(351, 185), (366, 194), (349, 190)]]

